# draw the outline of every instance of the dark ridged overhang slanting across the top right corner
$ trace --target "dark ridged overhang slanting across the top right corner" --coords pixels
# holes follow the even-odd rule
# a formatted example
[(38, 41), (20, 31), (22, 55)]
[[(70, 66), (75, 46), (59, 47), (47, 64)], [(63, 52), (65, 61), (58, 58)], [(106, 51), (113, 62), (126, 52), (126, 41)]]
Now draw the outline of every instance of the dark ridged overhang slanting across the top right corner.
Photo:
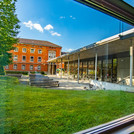
[(134, 7), (123, 0), (75, 0), (134, 26)]

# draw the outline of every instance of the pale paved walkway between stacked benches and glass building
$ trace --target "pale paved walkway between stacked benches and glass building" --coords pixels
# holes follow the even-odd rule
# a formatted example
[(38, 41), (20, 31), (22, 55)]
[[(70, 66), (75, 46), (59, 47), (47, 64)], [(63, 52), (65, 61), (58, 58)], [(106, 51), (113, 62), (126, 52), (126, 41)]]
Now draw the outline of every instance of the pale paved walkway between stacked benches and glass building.
[(89, 81), (78, 81), (76, 80), (68, 80), (67, 77), (62, 76), (60, 78), (56, 75), (47, 75), (50, 79), (55, 81), (59, 81), (59, 87), (53, 87), (52, 89), (63, 89), (63, 90), (86, 90), (89, 89)]

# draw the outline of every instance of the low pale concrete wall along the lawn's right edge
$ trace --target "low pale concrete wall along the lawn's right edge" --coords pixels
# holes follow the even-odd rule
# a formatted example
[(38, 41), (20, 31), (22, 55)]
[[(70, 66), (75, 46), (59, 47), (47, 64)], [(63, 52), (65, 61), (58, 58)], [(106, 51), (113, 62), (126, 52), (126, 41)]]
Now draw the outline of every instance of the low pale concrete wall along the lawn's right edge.
[(90, 80), (90, 84), (103, 90), (122, 90), (122, 91), (134, 92), (134, 86), (130, 87), (127, 85), (119, 85), (119, 84), (96, 81), (96, 80)]

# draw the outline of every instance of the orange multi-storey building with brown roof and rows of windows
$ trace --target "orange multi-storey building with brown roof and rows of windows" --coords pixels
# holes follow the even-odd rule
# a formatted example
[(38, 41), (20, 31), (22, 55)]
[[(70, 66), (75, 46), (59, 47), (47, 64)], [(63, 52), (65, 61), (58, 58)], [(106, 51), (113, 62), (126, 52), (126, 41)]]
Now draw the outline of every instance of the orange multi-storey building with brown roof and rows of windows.
[(14, 45), (13, 64), (5, 67), (6, 71), (48, 72), (47, 60), (61, 55), (61, 46), (48, 41), (19, 38)]

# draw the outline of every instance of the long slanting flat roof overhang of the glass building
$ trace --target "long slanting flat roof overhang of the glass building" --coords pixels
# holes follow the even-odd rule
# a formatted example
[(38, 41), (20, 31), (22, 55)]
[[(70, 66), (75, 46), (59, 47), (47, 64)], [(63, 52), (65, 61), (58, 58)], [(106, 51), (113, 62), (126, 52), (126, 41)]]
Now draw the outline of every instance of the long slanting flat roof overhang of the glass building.
[(106, 38), (104, 40), (98, 41), (96, 43), (79, 48), (68, 54), (50, 59), (47, 62), (61, 62), (61, 60), (63, 62), (67, 62), (68, 60), (74, 61), (78, 59), (79, 54), (80, 59), (93, 58), (96, 52), (98, 53), (99, 57), (105, 56), (107, 55), (107, 46), (109, 48), (108, 55), (115, 55), (126, 51), (129, 52), (129, 48), (132, 45), (131, 40), (134, 40), (134, 28)]

